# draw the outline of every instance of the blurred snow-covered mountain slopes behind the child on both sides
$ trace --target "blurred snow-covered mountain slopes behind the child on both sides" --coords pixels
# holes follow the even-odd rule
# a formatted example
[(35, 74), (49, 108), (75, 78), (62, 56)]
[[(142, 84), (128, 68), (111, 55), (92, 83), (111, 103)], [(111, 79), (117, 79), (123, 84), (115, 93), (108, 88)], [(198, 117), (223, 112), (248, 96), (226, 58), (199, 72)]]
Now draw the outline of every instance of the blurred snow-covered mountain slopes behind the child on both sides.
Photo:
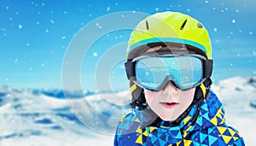
[[(254, 145), (256, 78), (233, 77), (212, 85), (226, 121)], [(113, 145), (119, 117), (131, 95), (0, 86), (0, 145)]]

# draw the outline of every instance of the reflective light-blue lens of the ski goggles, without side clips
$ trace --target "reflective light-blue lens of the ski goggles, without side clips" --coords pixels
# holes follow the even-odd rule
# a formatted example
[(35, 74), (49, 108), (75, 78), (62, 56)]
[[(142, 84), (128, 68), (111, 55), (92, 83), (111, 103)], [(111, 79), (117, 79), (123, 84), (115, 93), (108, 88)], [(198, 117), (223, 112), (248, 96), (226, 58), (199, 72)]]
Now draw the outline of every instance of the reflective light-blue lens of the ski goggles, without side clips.
[(137, 60), (137, 85), (149, 90), (160, 90), (166, 81), (173, 81), (180, 89), (189, 89), (201, 83), (203, 67), (195, 56), (147, 57)]

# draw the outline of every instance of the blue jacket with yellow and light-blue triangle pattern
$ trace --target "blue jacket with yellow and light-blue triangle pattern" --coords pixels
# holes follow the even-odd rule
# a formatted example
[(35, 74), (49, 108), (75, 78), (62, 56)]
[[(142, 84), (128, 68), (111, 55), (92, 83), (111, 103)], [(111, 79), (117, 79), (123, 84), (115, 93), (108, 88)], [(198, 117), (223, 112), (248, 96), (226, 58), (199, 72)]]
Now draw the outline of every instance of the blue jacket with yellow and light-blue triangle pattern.
[(114, 145), (245, 145), (240, 133), (225, 124), (224, 107), (212, 91), (201, 104), (199, 116), (192, 124), (190, 121), (195, 115), (196, 106), (178, 126), (159, 121), (143, 129), (140, 125), (147, 115), (141, 110), (130, 110), (119, 121)]

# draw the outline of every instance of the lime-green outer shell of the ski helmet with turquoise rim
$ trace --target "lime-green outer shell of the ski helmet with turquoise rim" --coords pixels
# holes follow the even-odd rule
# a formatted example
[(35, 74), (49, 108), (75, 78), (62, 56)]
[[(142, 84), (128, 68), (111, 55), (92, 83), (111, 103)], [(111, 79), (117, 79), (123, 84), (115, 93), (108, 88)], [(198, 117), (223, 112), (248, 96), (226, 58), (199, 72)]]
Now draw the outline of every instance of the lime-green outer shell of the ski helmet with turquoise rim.
[(207, 59), (212, 59), (212, 45), (207, 29), (187, 14), (167, 11), (150, 15), (139, 22), (131, 32), (127, 55), (134, 48), (152, 42), (190, 45), (201, 49)]

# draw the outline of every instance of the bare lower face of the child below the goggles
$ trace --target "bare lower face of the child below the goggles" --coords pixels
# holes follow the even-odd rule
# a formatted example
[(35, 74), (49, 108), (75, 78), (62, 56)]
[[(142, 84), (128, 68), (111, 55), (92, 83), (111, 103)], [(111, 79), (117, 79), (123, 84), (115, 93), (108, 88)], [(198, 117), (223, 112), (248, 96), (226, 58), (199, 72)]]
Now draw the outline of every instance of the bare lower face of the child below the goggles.
[(182, 91), (170, 81), (159, 92), (144, 89), (148, 106), (163, 121), (175, 121), (179, 115), (188, 109), (195, 95), (195, 87)]

